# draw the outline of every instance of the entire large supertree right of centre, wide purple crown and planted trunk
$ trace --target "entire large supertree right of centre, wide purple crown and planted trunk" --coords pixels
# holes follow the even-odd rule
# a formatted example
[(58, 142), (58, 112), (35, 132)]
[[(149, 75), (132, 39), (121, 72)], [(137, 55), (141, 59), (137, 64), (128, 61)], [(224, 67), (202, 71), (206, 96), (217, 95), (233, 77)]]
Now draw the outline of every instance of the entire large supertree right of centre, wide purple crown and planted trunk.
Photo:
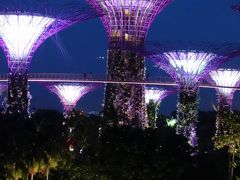
[(178, 84), (177, 133), (197, 146), (199, 85), (211, 70), (235, 56), (235, 44), (154, 44), (148, 56), (157, 67), (165, 70)]

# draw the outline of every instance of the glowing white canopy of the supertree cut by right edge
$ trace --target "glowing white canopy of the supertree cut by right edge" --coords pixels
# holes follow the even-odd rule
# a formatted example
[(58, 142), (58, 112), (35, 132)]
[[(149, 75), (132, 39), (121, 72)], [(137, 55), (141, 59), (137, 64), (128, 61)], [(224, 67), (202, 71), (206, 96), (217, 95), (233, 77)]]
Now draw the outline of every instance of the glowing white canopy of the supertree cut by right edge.
[[(230, 69), (219, 69), (210, 73), (211, 78), (217, 86), (236, 87), (240, 81), (240, 71)], [(223, 95), (229, 96), (234, 92), (231, 88), (218, 88)]]

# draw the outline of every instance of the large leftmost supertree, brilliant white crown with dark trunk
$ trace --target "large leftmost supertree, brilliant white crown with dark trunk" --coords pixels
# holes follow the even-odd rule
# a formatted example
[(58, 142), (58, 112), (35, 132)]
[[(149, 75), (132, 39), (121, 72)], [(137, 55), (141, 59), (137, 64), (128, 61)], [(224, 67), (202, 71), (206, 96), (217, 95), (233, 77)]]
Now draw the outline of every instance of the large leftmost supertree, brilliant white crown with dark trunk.
[(66, 1), (0, 1), (0, 45), (8, 61), (7, 114), (28, 117), (28, 69), (34, 52), (51, 35), (97, 16)]

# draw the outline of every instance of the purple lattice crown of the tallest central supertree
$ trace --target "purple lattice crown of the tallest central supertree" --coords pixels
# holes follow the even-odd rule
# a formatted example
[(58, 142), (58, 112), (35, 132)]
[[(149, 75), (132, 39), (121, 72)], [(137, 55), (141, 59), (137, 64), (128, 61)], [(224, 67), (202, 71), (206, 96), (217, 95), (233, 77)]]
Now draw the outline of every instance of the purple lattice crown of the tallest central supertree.
[(172, 0), (87, 0), (99, 13), (109, 38), (144, 40), (158, 13)]

